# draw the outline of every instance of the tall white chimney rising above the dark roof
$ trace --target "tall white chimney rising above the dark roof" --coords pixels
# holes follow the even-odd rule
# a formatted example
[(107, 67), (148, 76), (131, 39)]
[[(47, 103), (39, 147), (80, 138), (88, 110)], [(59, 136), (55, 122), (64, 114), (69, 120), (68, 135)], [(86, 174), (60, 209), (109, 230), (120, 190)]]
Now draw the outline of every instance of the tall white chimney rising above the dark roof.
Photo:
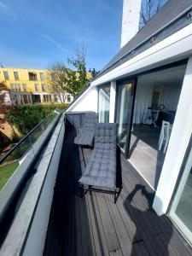
[(133, 38), (139, 29), (140, 10), (142, 0), (123, 0), (123, 16), (122, 16), (122, 30), (121, 43), (122, 48)]

